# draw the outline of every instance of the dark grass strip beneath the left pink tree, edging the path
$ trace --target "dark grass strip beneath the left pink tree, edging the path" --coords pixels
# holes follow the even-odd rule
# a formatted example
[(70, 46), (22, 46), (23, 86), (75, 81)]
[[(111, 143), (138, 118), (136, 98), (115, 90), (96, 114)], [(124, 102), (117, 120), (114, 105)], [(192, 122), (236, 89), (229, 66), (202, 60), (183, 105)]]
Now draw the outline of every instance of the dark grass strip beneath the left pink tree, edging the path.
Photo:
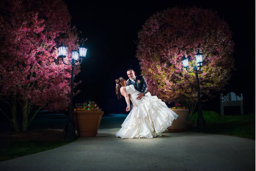
[(76, 140), (65, 140), (63, 137), (63, 130), (59, 129), (0, 132), (0, 161), (54, 149)]

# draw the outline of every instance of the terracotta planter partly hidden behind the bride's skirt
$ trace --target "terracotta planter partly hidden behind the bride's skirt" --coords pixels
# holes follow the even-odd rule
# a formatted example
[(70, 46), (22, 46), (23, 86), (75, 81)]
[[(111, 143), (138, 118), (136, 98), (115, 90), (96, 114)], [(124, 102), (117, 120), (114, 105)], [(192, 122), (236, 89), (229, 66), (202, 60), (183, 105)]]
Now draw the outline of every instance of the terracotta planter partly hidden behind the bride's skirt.
[(184, 132), (186, 131), (186, 122), (189, 109), (172, 109), (179, 117), (174, 120), (173, 124), (167, 129), (169, 132)]

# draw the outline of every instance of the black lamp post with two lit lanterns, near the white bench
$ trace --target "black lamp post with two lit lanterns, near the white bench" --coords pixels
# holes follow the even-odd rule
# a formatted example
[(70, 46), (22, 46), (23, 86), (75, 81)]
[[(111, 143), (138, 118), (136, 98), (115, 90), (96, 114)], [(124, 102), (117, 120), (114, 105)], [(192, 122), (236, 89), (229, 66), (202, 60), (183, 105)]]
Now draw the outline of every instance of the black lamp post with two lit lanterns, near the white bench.
[[(203, 53), (200, 53), (200, 50), (195, 54), (195, 61), (196, 64), (193, 67), (193, 70), (189, 70), (188, 64), (189, 58), (186, 58), (184, 55), (182, 58), (183, 66), (186, 68), (187, 72), (192, 73), (195, 72), (196, 77), (196, 87), (197, 87), (197, 97), (198, 97), (198, 118), (197, 118), (197, 129), (202, 130), (206, 127), (206, 121), (203, 118), (203, 110), (202, 110), (202, 100), (200, 96), (200, 87), (199, 87), (199, 80), (198, 80), (198, 71), (201, 71), (201, 66), (203, 66)], [(199, 69), (197, 69), (199, 67)]]

